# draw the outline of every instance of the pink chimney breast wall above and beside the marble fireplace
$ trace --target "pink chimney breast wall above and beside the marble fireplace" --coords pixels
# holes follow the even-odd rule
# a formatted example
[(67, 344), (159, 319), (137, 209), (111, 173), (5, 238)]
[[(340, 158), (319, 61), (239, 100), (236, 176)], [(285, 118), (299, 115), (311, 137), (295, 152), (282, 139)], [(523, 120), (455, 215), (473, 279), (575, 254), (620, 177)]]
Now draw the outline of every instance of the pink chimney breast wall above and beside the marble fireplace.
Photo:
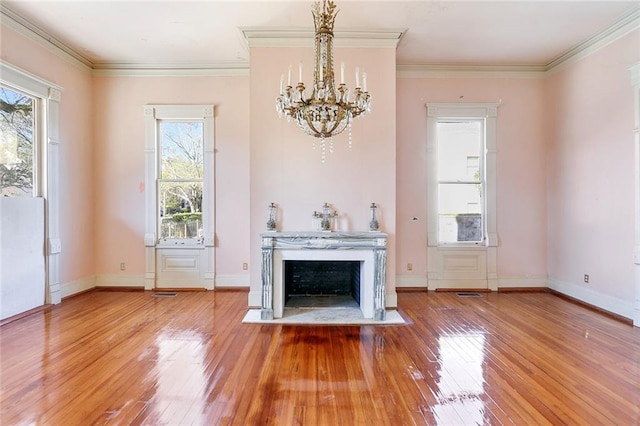
[[(260, 237), (266, 224), (267, 205), (277, 203), (279, 229), (310, 231), (311, 214), (324, 202), (345, 219), (343, 230), (368, 229), (369, 205), (380, 206), (381, 230), (389, 234), (388, 284), (395, 280), (396, 167), (395, 167), (395, 51), (394, 49), (336, 49), (337, 76), (342, 61), (346, 83), (354, 87), (355, 67), (368, 70), (368, 90), (373, 111), (356, 120), (353, 148), (348, 150), (347, 131), (335, 138), (335, 153), (321, 162), (313, 138), (293, 122), (278, 119), (275, 99), (280, 76), (289, 64), (306, 64), (303, 80), (312, 82), (313, 49), (251, 49), (251, 290), (260, 290)], [(285, 82), (286, 83), (286, 82)], [(296, 81), (297, 83), (297, 81)], [(251, 296), (250, 296), (251, 297)], [(251, 300), (250, 300), (251, 302)], [(255, 301), (254, 301), (255, 303)], [(259, 299), (258, 299), (259, 304)]]

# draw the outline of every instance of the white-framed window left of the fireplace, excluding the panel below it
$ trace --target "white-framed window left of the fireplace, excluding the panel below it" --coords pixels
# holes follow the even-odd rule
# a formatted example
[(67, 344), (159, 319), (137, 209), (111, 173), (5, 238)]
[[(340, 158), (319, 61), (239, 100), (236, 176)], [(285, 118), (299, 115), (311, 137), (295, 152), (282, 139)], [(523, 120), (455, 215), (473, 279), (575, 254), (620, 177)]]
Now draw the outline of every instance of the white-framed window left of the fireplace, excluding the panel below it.
[(146, 180), (155, 188), (146, 201), (146, 239), (205, 244), (213, 238), (213, 106), (151, 105), (145, 114)]

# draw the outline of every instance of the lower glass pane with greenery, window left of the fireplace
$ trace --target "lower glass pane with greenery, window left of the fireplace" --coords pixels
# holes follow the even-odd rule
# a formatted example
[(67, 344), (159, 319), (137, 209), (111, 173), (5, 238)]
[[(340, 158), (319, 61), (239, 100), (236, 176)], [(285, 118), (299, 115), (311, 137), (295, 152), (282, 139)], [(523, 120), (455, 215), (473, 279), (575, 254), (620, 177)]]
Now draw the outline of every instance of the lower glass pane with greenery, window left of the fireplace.
[(202, 181), (158, 183), (160, 238), (202, 237)]

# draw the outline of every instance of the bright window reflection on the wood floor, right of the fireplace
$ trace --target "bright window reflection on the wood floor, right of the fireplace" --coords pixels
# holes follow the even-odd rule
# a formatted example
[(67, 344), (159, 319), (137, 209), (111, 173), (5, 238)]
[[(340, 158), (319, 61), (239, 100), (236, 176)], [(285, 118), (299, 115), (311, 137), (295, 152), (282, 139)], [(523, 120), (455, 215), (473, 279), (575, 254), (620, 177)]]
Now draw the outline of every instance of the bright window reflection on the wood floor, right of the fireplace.
[(440, 336), (438, 349), (438, 403), (432, 407), (438, 424), (484, 424), (484, 334)]

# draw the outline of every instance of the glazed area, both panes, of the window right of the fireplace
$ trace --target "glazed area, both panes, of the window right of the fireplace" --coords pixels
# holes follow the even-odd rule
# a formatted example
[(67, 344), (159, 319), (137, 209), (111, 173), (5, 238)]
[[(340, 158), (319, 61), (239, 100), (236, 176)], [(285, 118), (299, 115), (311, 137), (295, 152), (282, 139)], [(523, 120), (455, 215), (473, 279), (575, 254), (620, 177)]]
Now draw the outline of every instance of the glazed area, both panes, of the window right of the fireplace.
[(484, 120), (437, 123), (438, 242), (484, 240)]

